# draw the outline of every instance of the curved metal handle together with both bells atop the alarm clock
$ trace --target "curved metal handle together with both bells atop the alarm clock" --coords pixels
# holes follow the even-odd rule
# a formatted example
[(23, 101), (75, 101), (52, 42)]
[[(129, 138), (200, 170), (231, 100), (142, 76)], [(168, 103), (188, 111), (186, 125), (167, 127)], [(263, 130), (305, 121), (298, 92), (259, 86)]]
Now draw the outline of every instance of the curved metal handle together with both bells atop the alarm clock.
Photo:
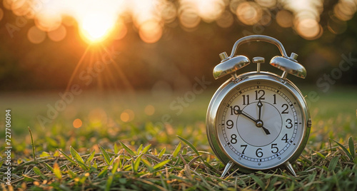
[(253, 41), (264, 41), (267, 43), (272, 43), (273, 45), (278, 47), (281, 56), (274, 56), (273, 58), (271, 58), (270, 64), (271, 66), (279, 68), (283, 71), (283, 74), (281, 75), (281, 78), (283, 78), (283, 80), (286, 79), (288, 73), (292, 74), (293, 76), (298, 76), (300, 78), (306, 77), (306, 69), (300, 63), (298, 63), (298, 61), (296, 61), (298, 55), (296, 53), (291, 53), (291, 56), (289, 57), (286, 54), (285, 48), (280, 41), (271, 36), (264, 35), (251, 35), (240, 38), (238, 41), (236, 41), (236, 43), (234, 43), (231, 51), (231, 56), (228, 56), (225, 52), (221, 53), (221, 63), (219, 63), (213, 69), (213, 77), (215, 79), (221, 78), (222, 76), (226, 76), (228, 73), (233, 73), (232, 75), (234, 75), (236, 74), (234, 73), (235, 71), (238, 71), (240, 68), (247, 66), (250, 61), (248, 58), (246, 58), (246, 56), (234, 56), (236, 55), (238, 46), (243, 43)]

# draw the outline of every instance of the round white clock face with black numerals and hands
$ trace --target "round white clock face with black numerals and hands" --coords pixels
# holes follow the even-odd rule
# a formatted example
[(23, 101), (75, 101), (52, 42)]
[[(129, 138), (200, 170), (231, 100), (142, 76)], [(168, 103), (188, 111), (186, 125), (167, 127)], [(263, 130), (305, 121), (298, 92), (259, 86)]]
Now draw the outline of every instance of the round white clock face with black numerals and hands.
[(281, 83), (253, 80), (223, 98), (216, 115), (220, 147), (243, 167), (265, 170), (286, 162), (304, 135), (301, 103)]

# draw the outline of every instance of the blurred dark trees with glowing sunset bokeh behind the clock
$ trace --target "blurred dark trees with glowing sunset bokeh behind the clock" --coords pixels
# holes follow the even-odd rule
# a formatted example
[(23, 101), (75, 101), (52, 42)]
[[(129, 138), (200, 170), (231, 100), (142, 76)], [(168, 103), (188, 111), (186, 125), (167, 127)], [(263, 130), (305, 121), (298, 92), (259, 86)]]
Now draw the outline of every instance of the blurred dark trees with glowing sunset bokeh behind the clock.
[[(0, 88), (64, 90), (88, 82), (89, 74), (95, 80), (82, 86), (89, 89), (174, 92), (202, 76), (218, 86), (224, 80), (211, 76), (218, 53), (229, 54), (238, 38), (251, 34), (277, 38), (288, 55), (298, 53), (308, 77), (291, 80), (316, 87), (318, 78), (339, 67), (342, 54), (357, 58), (356, 9), (355, 0), (4, 0)], [(96, 73), (106, 51), (118, 54)], [(263, 71), (281, 73), (268, 65), (279, 54), (271, 44), (244, 44), (238, 53), (263, 56)], [(341, 73), (337, 84), (357, 84), (356, 61)]]

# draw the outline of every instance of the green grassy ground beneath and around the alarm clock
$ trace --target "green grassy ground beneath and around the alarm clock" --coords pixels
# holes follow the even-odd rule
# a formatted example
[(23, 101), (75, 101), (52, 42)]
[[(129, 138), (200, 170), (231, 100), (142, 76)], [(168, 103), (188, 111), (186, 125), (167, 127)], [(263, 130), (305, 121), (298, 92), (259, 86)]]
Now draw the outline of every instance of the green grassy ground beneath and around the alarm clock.
[[(48, 117), (58, 93), (0, 96), (1, 105), (11, 109), (12, 124), (12, 187), (5, 185), (9, 165), (1, 147), (2, 190), (357, 189), (356, 88), (318, 92), (310, 105), (308, 144), (293, 164), (297, 177), (275, 170), (220, 178), (224, 166), (208, 146), (204, 124), (213, 91), (196, 95), (182, 113), (169, 105), (184, 93), (163, 98), (147, 92), (83, 92), (41, 127), (38, 117)], [(77, 118), (80, 128), (72, 124)]]

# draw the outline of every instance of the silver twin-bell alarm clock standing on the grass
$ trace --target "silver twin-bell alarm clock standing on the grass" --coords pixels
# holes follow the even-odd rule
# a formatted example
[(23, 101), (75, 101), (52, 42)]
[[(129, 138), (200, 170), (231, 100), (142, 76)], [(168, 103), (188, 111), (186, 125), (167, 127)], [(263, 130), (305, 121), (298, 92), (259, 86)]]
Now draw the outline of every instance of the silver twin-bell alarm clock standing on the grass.
[[(236, 55), (237, 48), (252, 41), (276, 45), (281, 56), (270, 64), (283, 73), (261, 71), (264, 58), (254, 57), (256, 71), (237, 75), (247, 66), (246, 56)], [(285, 167), (296, 176), (291, 165), (303, 152), (311, 129), (308, 106), (299, 89), (287, 79), (288, 74), (306, 77), (306, 69), (296, 61), (298, 55), (287, 56), (276, 38), (252, 35), (240, 38), (231, 55), (219, 54), (221, 63), (213, 69), (213, 77), (231, 74), (209, 103), (206, 133), (213, 153), (226, 167), (221, 177), (238, 168), (241, 172), (267, 171)]]

